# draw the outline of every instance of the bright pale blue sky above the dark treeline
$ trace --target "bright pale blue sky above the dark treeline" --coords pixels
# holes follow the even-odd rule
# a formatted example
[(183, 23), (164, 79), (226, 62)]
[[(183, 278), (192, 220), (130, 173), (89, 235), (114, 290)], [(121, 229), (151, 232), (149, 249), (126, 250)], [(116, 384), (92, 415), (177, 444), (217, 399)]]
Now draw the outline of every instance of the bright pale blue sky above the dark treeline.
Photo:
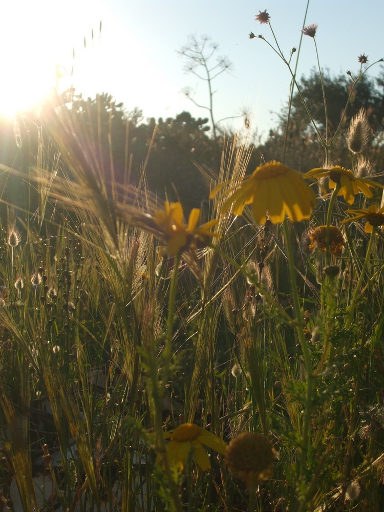
[[(252, 129), (265, 136), (286, 104), (290, 74), (285, 63), (258, 38), (273, 42), (271, 28), (288, 58), (300, 44), (301, 29), (316, 23), (316, 43), (323, 70), (357, 73), (358, 55), (369, 63), (384, 57), (384, 3), (367, 0), (18, 0), (0, 7), (0, 114), (41, 101), (52, 88), (73, 85), (83, 97), (108, 92), (127, 111), (139, 108), (149, 117), (175, 117), (186, 110), (207, 117), (183, 94), (208, 105), (207, 84), (185, 73), (177, 50), (189, 35), (208, 36), (215, 55), (232, 63), (212, 83), (214, 114), (222, 118), (249, 114)], [(255, 20), (267, 10), (270, 26)], [(100, 31), (101, 20), (101, 31)], [(85, 41), (85, 44), (84, 44)], [(294, 54), (294, 57), (296, 57)], [(215, 63), (212, 60), (212, 63)], [(293, 66), (295, 61), (293, 60)], [(303, 37), (297, 75), (317, 65), (313, 40)], [(370, 76), (384, 71), (371, 68)], [(223, 126), (241, 129), (243, 119)]]

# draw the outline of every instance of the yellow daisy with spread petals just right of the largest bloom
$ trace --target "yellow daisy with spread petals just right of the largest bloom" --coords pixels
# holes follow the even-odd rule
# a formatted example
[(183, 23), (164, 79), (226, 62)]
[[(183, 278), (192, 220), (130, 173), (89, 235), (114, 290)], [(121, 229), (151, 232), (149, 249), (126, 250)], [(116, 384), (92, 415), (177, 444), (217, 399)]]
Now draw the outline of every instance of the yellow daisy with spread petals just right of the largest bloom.
[(303, 178), (329, 178), (329, 187), (336, 188), (336, 185), (339, 185), (340, 189), (337, 195), (343, 196), (348, 204), (353, 204), (355, 195), (359, 192), (367, 197), (372, 197), (370, 188), (381, 186), (375, 181), (356, 178), (351, 170), (340, 167), (340, 165), (335, 165), (330, 169), (316, 167), (305, 173)]

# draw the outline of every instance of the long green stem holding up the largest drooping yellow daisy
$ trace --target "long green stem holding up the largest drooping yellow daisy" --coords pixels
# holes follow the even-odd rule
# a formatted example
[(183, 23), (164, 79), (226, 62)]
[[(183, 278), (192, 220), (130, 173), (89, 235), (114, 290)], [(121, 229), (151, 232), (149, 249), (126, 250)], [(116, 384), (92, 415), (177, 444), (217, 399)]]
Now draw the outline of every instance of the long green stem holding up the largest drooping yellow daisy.
[(308, 341), (304, 334), (304, 319), (303, 311), (300, 306), (300, 299), (298, 297), (297, 285), (296, 285), (296, 270), (294, 265), (293, 250), (291, 244), (290, 231), (288, 228), (287, 220), (283, 222), (283, 233), (284, 243), (288, 257), (288, 269), (291, 283), (291, 296), (293, 301), (293, 309), (295, 315), (295, 327), (297, 331), (297, 337), (300, 341), (300, 346), (303, 351), (304, 365), (307, 372), (307, 393), (305, 399), (305, 410), (304, 410), (304, 425), (303, 425), (303, 439), (302, 439), (302, 453), (300, 459), (300, 477), (304, 477), (304, 473), (307, 466), (307, 454), (309, 444), (309, 431), (311, 427), (311, 415), (312, 415), (312, 390), (314, 376), (312, 374), (312, 360), (311, 353), (308, 347)]

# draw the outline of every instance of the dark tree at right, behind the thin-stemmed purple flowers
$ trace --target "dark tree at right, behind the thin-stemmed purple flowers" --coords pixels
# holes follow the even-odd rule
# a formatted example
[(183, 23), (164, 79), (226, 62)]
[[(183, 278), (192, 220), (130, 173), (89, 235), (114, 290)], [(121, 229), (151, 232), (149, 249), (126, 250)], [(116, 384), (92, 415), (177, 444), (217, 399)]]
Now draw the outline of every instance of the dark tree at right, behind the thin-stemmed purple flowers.
[[(316, 121), (319, 130), (325, 129), (325, 109), (321, 81), (313, 70), (308, 78), (303, 77), (300, 87), (310, 112)], [(350, 155), (345, 143), (345, 132), (349, 121), (361, 108), (366, 109), (372, 128), (371, 144), (368, 147), (369, 156), (373, 166), (381, 170), (383, 165), (382, 137), (384, 130), (384, 79), (383, 74), (378, 79), (364, 75), (356, 84), (351, 101), (345, 112), (348, 96), (351, 92), (352, 81), (344, 74), (339, 76), (324, 75), (325, 96), (328, 107), (328, 129), (332, 136), (340, 120), (342, 127), (335, 144), (331, 148), (331, 160), (335, 163), (350, 164)], [(253, 158), (260, 161), (263, 155), (265, 160), (282, 159), (284, 144), (286, 148), (286, 163), (297, 169), (308, 170), (318, 167), (324, 160), (324, 149), (317, 139), (317, 135), (309, 120), (300, 96), (295, 93), (292, 101), (292, 111), (289, 132), (285, 141), (285, 127), (288, 107), (279, 115), (278, 126), (270, 130), (266, 141), (259, 145)]]

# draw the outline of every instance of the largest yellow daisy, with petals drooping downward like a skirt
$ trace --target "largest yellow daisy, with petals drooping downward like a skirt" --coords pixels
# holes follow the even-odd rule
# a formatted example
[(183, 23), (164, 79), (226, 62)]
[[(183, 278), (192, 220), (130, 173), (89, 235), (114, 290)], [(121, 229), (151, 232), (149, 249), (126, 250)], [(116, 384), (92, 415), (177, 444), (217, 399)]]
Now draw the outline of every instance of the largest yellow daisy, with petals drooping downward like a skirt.
[[(210, 198), (227, 183), (216, 187)], [(252, 203), (253, 218), (258, 224), (265, 224), (267, 218), (273, 223), (283, 222), (286, 215), (292, 222), (308, 219), (316, 202), (302, 174), (276, 161), (257, 167), (242, 183), (230, 186), (224, 196), (229, 197), (223, 212), (231, 209), (234, 215), (241, 215), (244, 206)]]

